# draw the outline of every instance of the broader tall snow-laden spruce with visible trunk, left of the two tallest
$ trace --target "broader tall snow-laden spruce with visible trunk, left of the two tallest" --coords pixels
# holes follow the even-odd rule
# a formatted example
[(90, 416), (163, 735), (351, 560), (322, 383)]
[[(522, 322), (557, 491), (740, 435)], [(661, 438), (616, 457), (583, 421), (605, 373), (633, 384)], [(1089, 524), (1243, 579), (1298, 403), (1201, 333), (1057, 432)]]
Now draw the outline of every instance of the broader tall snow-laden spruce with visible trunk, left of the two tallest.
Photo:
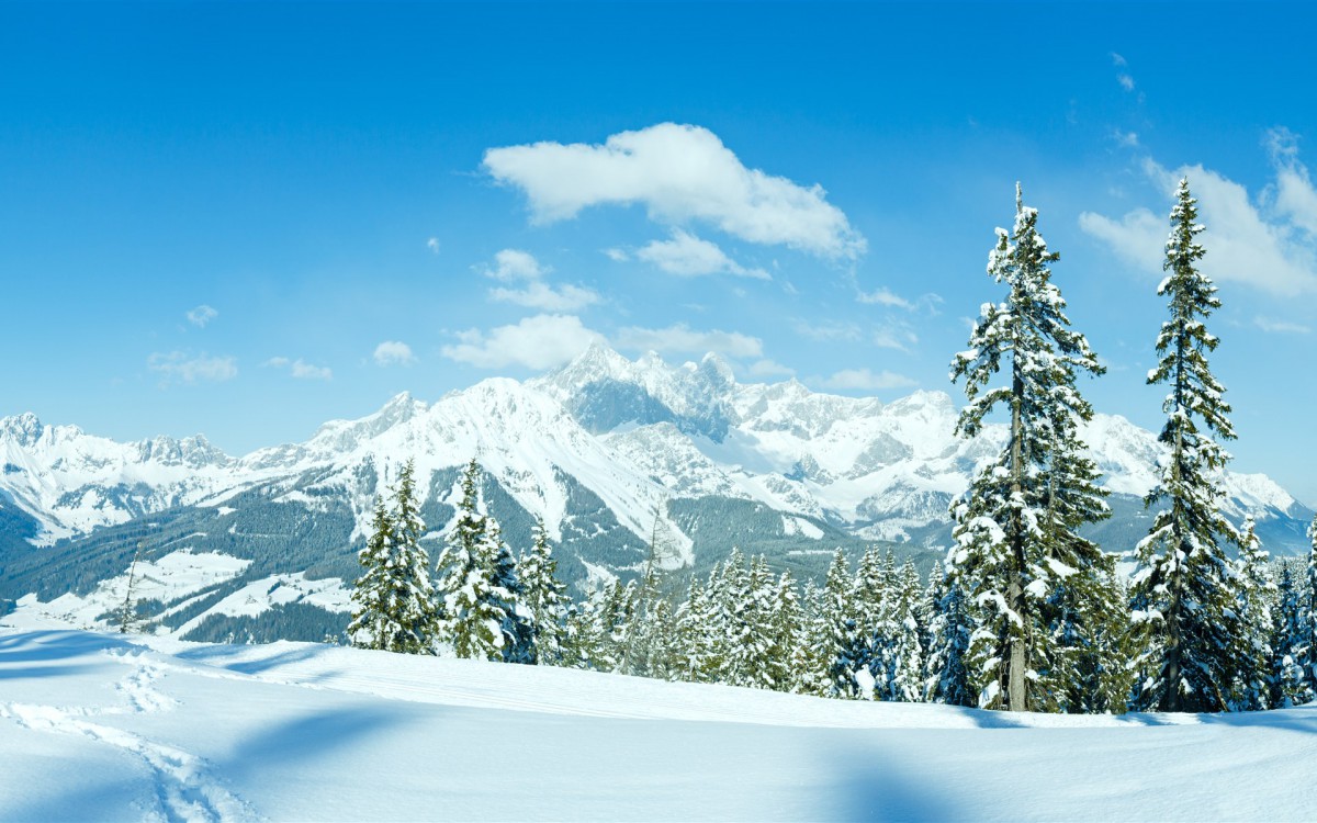
[[(1009, 415), (1004, 452), (951, 506), (956, 545), (948, 573), (975, 606), (968, 669), (985, 708), (1027, 711), (1050, 702), (1030, 694), (1047, 682), (1056, 650), (1048, 602), (1067, 575), (1094, 561), (1073, 529), (1106, 515), (1090, 466), (1079, 458), (1077, 425), (1093, 412), (1075, 386), (1080, 374), (1105, 369), (1071, 329), (1051, 282), (1058, 259), (1017, 186), (1014, 229), (997, 229), (988, 262), (989, 277), (1009, 292), (984, 305), (969, 349), (952, 362), (951, 378), (964, 378), (969, 400), (959, 435), (977, 436), (998, 407)], [(1006, 382), (994, 385), (1002, 370)]]

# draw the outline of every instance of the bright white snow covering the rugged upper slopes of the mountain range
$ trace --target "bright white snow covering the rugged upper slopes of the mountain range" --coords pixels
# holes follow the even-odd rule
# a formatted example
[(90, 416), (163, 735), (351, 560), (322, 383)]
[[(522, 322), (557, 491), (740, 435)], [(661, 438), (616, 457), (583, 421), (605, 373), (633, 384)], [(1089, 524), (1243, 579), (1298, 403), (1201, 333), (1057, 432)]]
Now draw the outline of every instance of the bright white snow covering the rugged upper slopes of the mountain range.
[[(568, 408), (605, 379), (637, 387), (678, 416), (718, 416), (727, 423), (726, 436), (635, 421), (591, 433)], [(234, 514), (225, 503), (240, 491), (273, 485), (273, 499), (312, 511), (345, 499), (356, 515), (353, 537), (362, 537), (375, 494), (404, 460), (416, 460), (417, 491), (425, 496), (433, 471), (475, 457), (519, 504), (544, 518), (553, 540), (561, 539), (568, 515), (564, 475), (598, 495), (641, 540), (665, 500), (706, 495), (753, 500), (784, 518), (842, 523), (861, 537), (901, 540), (948, 523), (948, 499), (1005, 441), (1000, 424), (986, 424), (976, 438), (956, 437), (956, 417), (955, 402), (940, 391), (884, 404), (813, 392), (794, 379), (740, 385), (716, 358), (669, 366), (657, 356), (632, 362), (594, 346), (543, 378), (489, 379), (433, 404), (402, 394), (360, 420), (325, 423), (306, 442), (241, 458), (200, 437), (117, 444), (75, 427), (43, 425), (32, 415), (7, 417), (0, 420), (0, 498), (11, 495), (37, 516), (38, 543), (50, 544), (176, 504), (213, 506), (224, 518)], [(1166, 449), (1152, 432), (1096, 415), (1081, 435), (1106, 489), (1142, 496), (1156, 485)], [(317, 479), (299, 489), (308, 477)], [(1295, 504), (1260, 474), (1227, 474), (1226, 483), (1231, 516), (1262, 521), (1289, 516)], [(690, 560), (690, 537), (676, 523), (666, 527), (680, 557)]]

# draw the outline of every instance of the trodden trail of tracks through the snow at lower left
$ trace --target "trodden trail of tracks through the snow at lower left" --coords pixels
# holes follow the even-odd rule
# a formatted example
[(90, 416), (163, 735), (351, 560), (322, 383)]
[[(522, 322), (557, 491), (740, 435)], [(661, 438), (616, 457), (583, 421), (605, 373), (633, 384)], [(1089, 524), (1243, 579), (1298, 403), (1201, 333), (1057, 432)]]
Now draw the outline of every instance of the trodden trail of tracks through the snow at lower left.
[(178, 701), (155, 689), (155, 681), (167, 666), (142, 652), (105, 650), (104, 654), (133, 666), (133, 670), (115, 685), (126, 699), (128, 707), (0, 703), (0, 718), (9, 718), (33, 731), (83, 735), (138, 757), (150, 770), (154, 783), (154, 807), (144, 810), (144, 819), (153, 823), (259, 820), (259, 815), (246, 802), (212, 776), (212, 768), (205, 760), (183, 749), (87, 719), (99, 715), (153, 714), (178, 706)]

